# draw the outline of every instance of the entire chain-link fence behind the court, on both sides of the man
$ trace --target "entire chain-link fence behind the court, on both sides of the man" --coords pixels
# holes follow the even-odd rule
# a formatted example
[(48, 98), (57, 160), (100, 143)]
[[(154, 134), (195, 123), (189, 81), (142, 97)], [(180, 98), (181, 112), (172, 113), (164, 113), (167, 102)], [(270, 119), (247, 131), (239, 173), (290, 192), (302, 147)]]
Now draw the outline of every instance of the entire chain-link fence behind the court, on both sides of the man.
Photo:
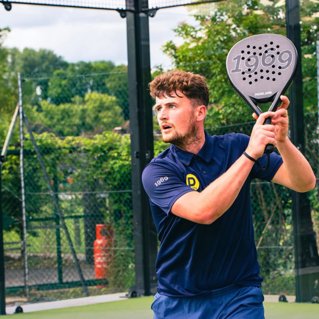
[[(317, 176), (315, 54), (308, 59), (303, 70), (305, 155)], [(207, 63), (182, 67), (210, 77)], [(24, 128), (23, 154), (21, 141), (13, 138), (16, 142), (3, 163), (9, 296), (28, 301), (84, 296), (81, 276), (91, 295), (126, 292), (135, 284), (127, 83), (127, 72), (22, 77), (23, 109), (41, 156)], [(222, 126), (206, 125), (206, 130), (249, 135), (253, 124), (233, 119)], [(19, 136), (19, 125), (15, 135)], [(157, 138), (154, 145), (155, 154), (167, 147)], [(313, 238), (319, 247), (317, 190), (308, 195)], [(294, 295), (291, 191), (256, 180), (251, 184), (251, 199), (263, 292)]]

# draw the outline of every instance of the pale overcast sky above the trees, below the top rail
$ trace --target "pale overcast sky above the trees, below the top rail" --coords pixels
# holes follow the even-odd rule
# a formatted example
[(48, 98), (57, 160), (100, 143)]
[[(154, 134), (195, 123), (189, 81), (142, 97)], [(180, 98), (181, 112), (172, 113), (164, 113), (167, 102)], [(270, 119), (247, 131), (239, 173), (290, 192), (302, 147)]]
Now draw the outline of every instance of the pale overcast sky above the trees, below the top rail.
[[(161, 52), (166, 41), (180, 43), (172, 31), (179, 22), (196, 22), (185, 7), (160, 9), (149, 18), (151, 67), (170, 65)], [(52, 50), (70, 63), (110, 60), (127, 64), (126, 19), (117, 11), (12, 4), (6, 11), (0, 4), (0, 28), (10, 27), (4, 40), (8, 48)]]

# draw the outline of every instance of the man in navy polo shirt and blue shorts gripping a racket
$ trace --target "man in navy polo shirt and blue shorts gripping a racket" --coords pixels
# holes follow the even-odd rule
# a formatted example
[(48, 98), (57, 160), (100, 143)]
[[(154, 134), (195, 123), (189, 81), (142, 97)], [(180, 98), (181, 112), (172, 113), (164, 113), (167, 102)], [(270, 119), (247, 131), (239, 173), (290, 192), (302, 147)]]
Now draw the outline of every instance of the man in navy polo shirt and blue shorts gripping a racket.
[[(254, 114), (250, 138), (209, 136), (204, 77), (170, 71), (154, 78), (150, 92), (163, 141), (171, 143), (142, 175), (161, 243), (154, 319), (262, 319), (249, 184), (262, 178), (298, 192), (315, 187), (308, 161), (287, 137), (289, 100)], [(268, 116), (272, 124), (263, 125)], [(281, 156), (271, 153), (263, 169), (267, 144)]]

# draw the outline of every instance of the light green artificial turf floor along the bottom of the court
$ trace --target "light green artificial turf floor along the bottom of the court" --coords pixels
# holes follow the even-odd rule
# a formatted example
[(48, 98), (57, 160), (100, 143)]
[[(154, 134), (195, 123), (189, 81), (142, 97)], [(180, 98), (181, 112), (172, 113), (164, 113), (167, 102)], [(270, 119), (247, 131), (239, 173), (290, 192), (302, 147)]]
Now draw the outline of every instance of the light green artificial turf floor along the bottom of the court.
[[(16, 319), (152, 319), (153, 297), (14, 314)], [(22, 306), (23, 307), (23, 306)], [(319, 304), (265, 302), (265, 319), (318, 319)], [(188, 319), (188, 318), (181, 318)], [(203, 318), (204, 319), (204, 318)]]

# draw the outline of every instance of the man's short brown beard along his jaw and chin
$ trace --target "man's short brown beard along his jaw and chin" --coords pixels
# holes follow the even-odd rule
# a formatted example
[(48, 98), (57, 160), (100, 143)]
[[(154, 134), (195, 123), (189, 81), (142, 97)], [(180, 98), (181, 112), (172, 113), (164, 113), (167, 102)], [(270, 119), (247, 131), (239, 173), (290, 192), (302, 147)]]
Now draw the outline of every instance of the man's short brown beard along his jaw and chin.
[(173, 135), (165, 136), (162, 132), (162, 139), (164, 143), (174, 144), (176, 147), (182, 150), (186, 150), (189, 145), (200, 141), (196, 124), (193, 121), (189, 123), (186, 133), (181, 134), (175, 131)]

